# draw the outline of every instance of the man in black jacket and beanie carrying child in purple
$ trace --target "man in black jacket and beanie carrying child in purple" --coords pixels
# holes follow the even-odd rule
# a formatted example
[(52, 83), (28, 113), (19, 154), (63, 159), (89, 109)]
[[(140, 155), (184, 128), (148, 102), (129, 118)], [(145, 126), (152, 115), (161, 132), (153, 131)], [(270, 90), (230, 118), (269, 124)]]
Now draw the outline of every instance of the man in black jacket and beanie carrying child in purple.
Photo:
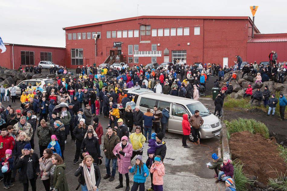
[[(154, 154), (148, 154), (148, 153), (147, 154), (148, 154), (149, 158), (153, 159), (153, 162), (154, 162), (154, 158), (157, 155), (160, 156), (161, 161), (163, 161), (163, 159), (166, 156), (166, 144), (165, 144), (165, 142), (163, 142), (163, 133), (162, 132), (156, 134), (156, 142), (158, 144), (162, 143), (163, 145), (161, 147), (159, 147), (159, 148), (156, 148), (156, 151), (155, 151)], [(150, 189), (147, 189), (148, 191), (154, 190), (153, 189), (153, 173), (150, 173), (150, 179), (151, 179), (151, 187), (150, 187)]]

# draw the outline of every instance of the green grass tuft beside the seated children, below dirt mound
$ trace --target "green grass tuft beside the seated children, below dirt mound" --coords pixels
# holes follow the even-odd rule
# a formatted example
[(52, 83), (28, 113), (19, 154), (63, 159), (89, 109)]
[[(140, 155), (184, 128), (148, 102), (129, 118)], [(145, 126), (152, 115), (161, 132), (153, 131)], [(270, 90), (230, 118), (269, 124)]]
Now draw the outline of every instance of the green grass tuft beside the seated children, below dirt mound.
[(235, 159), (234, 161), (232, 161), (232, 165), (234, 169), (233, 179), (235, 181), (236, 190), (246, 191), (246, 183), (253, 184), (253, 181), (248, 180), (246, 174), (243, 173), (242, 162), (237, 161), (237, 159)]

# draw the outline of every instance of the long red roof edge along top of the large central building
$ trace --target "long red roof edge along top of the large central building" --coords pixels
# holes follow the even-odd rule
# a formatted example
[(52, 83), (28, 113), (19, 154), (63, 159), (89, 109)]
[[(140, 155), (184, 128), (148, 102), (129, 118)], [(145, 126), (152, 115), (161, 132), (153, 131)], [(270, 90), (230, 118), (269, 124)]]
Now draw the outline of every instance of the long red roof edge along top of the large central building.
[[(75, 28), (81, 28), (81, 27), (90, 27), (90, 26), (101, 25), (101, 24), (108, 24), (108, 23), (116, 23), (116, 22), (121, 22), (121, 21), (130, 21), (130, 20), (136, 20), (136, 19), (151, 19), (151, 18), (160, 18), (160, 19), (248, 19), (249, 22), (252, 24), (252, 20), (251, 20), (250, 17), (233, 17), (233, 16), (147, 16), (147, 15), (145, 15), (145, 16), (139, 16), (139, 17), (130, 17), (130, 18), (117, 19), (117, 20), (112, 20), (112, 21), (104, 21), (104, 22), (99, 22), (99, 23), (91, 23), (91, 24), (83, 24), (83, 25), (72, 26), (72, 27), (64, 27), (63, 30), (75, 29)], [(256, 30), (258, 30), (258, 29), (256, 28)]]

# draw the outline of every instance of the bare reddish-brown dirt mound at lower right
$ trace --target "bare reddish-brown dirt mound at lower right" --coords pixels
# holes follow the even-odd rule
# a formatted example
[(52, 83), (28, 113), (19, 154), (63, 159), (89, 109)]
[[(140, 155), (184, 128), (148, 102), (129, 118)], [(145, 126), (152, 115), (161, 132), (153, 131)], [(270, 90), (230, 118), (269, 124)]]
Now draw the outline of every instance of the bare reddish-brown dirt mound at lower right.
[[(277, 169), (278, 173), (286, 172), (284, 159), (279, 157), (274, 145), (274, 138), (265, 139), (261, 134), (251, 134), (249, 131), (232, 133), (229, 139), (229, 148), (232, 160), (238, 158), (244, 163), (243, 172), (248, 176), (258, 177), (258, 181), (267, 184), (267, 179), (276, 178), (272, 170)], [(272, 168), (271, 168), (272, 167)]]

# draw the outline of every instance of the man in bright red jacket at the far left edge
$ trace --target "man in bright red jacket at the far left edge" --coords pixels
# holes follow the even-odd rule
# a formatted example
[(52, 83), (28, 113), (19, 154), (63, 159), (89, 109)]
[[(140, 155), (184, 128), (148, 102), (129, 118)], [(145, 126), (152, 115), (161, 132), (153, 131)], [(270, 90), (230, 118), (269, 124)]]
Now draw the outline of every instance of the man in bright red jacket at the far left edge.
[(0, 136), (0, 158), (5, 157), (5, 151), (10, 149), (13, 151), (15, 141), (14, 138), (8, 135), (8, 130), (3, 128)]

